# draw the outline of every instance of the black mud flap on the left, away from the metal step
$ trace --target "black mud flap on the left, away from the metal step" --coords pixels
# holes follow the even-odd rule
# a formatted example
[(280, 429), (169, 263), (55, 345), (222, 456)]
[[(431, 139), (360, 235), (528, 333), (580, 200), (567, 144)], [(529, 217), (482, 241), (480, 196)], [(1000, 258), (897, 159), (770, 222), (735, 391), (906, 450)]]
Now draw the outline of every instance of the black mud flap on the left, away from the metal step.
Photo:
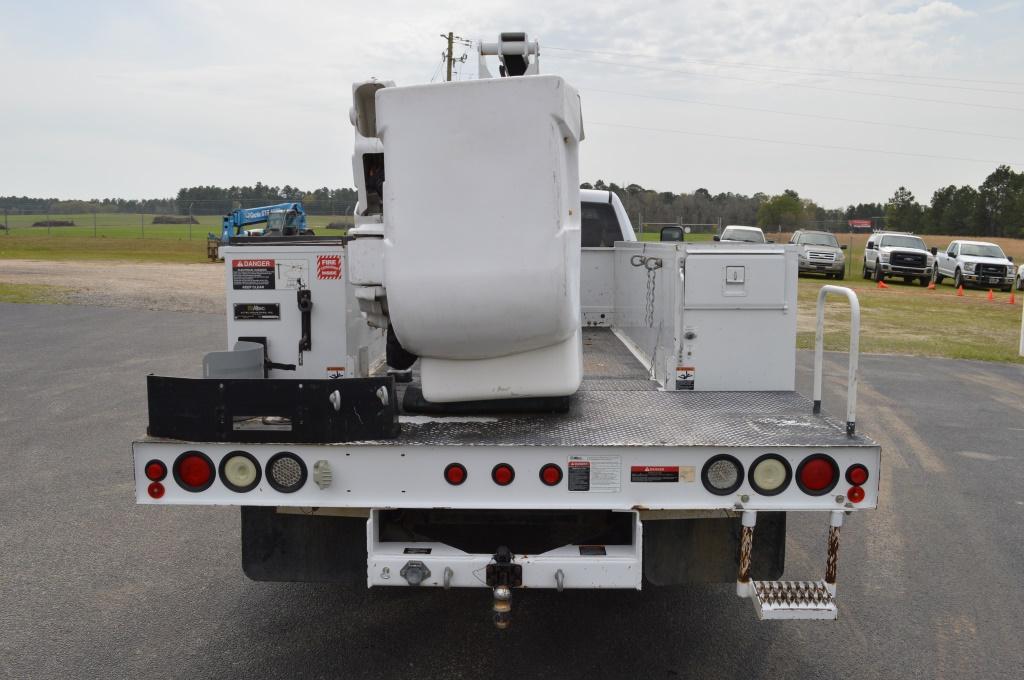
[(242, 570), (253, 581), (367, 584), (367, 520), (242, 508)]

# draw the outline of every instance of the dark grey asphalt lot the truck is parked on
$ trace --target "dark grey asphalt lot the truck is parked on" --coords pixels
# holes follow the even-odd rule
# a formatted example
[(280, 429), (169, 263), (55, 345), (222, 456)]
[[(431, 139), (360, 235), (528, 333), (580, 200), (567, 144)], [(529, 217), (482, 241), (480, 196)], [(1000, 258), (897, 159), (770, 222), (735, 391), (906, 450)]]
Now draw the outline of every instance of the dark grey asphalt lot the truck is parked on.
[[(501, 633), (485, 590), (254, 583), (237, 510), (134, 505), (144, 376), (198, 375), (223, 326), (0, 304), (0, 677), (1021, 677), (1022, 366), (862, 357), (883, 500), (844, 527), (839, 622), (758, 623), (731, 586), (523, 592)], [(786, 576), (817, 578), (825, 521), (790, 527)]]

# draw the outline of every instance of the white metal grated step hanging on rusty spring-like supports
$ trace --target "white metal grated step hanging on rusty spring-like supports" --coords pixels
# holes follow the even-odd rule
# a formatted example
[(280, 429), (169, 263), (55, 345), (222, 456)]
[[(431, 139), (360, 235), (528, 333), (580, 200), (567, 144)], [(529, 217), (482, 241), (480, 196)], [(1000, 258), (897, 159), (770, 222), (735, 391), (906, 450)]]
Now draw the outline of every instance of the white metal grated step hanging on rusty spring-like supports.
[(836, 570), (839, 564), (839, 532), (843, 525), (843, 511), (834, 510), (829, 514), (828, 554), (823, 581), (752, 581), (751, 556), (756, 522), (756, 512), (743, 512), (736, 594), (750, 598), (761, 621), (835, 621), (839, 617), (836, 606)]

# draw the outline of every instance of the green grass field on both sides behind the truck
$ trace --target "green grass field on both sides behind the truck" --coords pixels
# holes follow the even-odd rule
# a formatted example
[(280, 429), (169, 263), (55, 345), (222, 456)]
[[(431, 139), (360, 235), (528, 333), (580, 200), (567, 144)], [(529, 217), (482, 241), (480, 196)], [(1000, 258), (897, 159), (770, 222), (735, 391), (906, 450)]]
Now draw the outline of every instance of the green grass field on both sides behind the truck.
[[(118, 260), (139, 262), (206, 262), (206, 233), (219, 229), (219, 216), (199, 217), (188, 238), (186, 224), (152, 224), (153, 216), (100, 213), (96, 215), (96, 236), (93, 236), (92, 215), (50, 215), (51, 219), (74, 219), (75, 226), (33, 227), (32, 222), (45, 215), (10, 217), (10, 231), (0, 232), (0, 259), (47, 260)], [(312, 216), (309, 223), (318, 233), (340, 233), (328, 230), (329, 221), (343, 217)], [(350, 219), (350, 218), (348, 218)], [(708, 241), (711, 233), (687, 235), (688, 241)], [(657, 241), (657, 233), (643, 233), (643, 241)], [(788, 233), (770, 233), (776, 243), (787, 243)], [(948, 356), (996, 362), (1024, 363), (1017, 347), (1021, 328), (1021, 305), (1024, 294), (1017, 295), (1016, 305), (1008, 303), (1009, 295), (996, 292), (995, 301), (987, 301), (987, 291), (968, 290), (957, 297), (947, 283), (934, 291), (921, 286), (891, 281), (889, 288), (880, 290), (873, 282), (861, 279), (866, 236), (841, 235), (840, 243), (847, 249), (847, 279), (826, 282), (819, 277), (800, 280), (800, 328), (798, 346), (814, 346), (814, 305), (817, 292), (824, 283), (841, 283), (852, 287), (861, 303), (860, 348), (868, 353)], [(951, 237), (926, 236), (929, 246), (945, 249)], [(1024, 261), (1024, 241), (995, 239), (1008, 255)], [(0, 264), (2, 268), (2, 264)], [(0, 301), (55, 302), (67, 290), (45, 286), (4, 284), (0, 286)], [(849, 312), (845, 302), (833, 301), (826, 314), (825, 347), (845, 350), (849, 343)]]

